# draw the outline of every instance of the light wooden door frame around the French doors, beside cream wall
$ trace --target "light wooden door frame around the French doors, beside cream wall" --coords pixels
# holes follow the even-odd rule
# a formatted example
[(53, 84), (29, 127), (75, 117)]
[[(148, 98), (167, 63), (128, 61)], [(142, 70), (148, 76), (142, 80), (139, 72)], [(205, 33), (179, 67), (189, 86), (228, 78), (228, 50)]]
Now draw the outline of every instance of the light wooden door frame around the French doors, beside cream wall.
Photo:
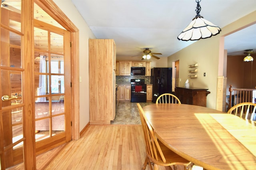
[[(34, 0), (40, 8), (71, 33), (72, 140), (80, 138), (79, 30), (52, 0)], [(74, 95), (76, 94), (76, 95)]]

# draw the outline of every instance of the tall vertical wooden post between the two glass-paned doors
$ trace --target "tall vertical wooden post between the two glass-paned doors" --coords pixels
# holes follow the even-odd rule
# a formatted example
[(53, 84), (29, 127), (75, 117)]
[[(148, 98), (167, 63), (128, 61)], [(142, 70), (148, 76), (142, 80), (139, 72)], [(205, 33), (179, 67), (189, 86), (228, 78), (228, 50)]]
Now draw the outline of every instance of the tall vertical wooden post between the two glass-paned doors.
[[(34, 55), (34, 24), (33, 24), (33, 11), (34, 3), (32, 0), (25, 0), (22, 2), (22, 15), (21, 24), (24, 38), (22, 38), (22, 56), (33, 56)], [(26, 45), (25, 45), (26, 44)], [(22, 91), (24, 94), (34, 94), (34, 75), (33, 73), (33, 57), (23, 57), (26, 65), (24, 65), (24, 82)], [(35, 114), (34, 95), (24, 95), (24, 112), (23, 112), (23, 123), (24, 123), (24, 169), (32, 170), (36, 169), (36, 142), (35, 142)], [(24, 115), (26, 113), (26, 115)]]

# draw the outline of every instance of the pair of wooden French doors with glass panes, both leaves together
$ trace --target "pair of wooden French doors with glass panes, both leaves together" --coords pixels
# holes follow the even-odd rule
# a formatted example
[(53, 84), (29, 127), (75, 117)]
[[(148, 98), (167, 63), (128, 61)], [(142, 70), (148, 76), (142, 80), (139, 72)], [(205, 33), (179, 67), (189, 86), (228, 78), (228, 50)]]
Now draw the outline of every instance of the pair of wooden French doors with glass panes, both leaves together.
[(30, 19), (31, 2), (0, 10), (0, 169), (71, 140), (70, 32)]

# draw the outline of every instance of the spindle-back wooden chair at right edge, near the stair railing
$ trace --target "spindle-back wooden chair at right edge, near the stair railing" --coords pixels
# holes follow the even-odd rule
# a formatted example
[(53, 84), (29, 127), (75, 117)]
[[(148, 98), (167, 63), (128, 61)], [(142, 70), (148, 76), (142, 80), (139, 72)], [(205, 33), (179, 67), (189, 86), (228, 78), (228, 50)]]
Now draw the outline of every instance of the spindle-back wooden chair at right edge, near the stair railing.
[(228, 110), (228, 113), (239, 116), (244, 119), (256, 121), (256, 103), (244, 102), (234, 105)]

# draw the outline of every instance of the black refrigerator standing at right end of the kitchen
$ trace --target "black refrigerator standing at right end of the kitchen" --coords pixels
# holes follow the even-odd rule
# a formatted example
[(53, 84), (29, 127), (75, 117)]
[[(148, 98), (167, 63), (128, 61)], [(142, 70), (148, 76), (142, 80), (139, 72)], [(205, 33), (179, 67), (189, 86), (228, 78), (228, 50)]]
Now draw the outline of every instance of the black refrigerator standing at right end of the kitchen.
[(172, 93), (172, 68), (152, 68), (150, 84), (153, 84), (153, 103), (156, 103), (158, 96)]

